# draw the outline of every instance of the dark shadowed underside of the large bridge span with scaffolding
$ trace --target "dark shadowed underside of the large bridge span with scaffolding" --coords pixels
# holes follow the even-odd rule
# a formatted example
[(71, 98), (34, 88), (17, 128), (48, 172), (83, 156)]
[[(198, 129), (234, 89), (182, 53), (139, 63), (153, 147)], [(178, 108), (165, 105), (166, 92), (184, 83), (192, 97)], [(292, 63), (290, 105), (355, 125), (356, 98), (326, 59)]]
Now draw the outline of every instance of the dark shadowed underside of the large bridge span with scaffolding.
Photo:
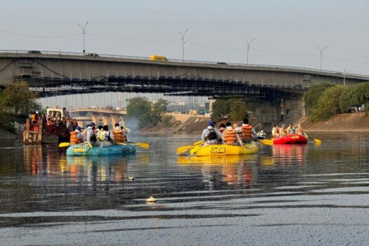
[(41, 97), (74, 93), (101, 93), (122, 91), (135, 93), (164, 93), (167, 96), (247, 96), (271, 99), (301, 96), (305, 89), (296, 86), (270, 86), (236, 80), (198, 79), (188, 77), (105, 77), (91, 79), (27, 79), (32, 91)]

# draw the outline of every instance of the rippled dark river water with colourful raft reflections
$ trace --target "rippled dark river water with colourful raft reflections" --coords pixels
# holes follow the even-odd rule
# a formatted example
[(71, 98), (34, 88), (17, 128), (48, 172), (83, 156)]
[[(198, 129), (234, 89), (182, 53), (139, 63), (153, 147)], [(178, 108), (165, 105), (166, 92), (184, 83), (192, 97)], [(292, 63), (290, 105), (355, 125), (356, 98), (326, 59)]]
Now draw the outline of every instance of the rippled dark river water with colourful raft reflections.
[(219, 158), (176, 156), (195, 136), (127, 157), (1, 143), (0, 245), (368, 245), (369, 134), (314, 137)]

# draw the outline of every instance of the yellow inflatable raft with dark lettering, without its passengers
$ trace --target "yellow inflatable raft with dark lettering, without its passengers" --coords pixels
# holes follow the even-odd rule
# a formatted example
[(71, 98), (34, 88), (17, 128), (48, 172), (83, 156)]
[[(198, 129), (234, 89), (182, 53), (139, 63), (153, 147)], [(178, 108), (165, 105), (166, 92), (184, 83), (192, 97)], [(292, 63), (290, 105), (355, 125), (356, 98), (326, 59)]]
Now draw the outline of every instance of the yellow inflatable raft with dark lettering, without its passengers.
[(250, 155), (257, 153), (259, 147), (255, 142), (246, 143), (244, 146), (228, 144), (202, 145), (192, 148), (191, 155), (196, 156), (217, 156), (217, 155)]

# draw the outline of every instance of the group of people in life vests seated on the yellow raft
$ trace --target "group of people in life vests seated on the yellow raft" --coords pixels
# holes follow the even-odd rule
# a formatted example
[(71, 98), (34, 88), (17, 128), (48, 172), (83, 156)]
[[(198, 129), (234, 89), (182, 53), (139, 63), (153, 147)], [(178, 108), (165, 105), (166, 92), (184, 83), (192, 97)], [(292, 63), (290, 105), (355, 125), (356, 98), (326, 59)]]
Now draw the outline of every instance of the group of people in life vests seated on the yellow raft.
[(205, 142), (205, 145), (210, 144), (230, 144), (230, 145), (245, 145), (245, 143), (251, 143), (253, 138), (257, 137), (257, 132), (249, 124), (249, 119), (243, 119), (241, 126), (238, 124), (220, 124), (219, 128), (216, 127), (215, 122), (208, 122), (207, 128), (202, 131), (201, 140)]

